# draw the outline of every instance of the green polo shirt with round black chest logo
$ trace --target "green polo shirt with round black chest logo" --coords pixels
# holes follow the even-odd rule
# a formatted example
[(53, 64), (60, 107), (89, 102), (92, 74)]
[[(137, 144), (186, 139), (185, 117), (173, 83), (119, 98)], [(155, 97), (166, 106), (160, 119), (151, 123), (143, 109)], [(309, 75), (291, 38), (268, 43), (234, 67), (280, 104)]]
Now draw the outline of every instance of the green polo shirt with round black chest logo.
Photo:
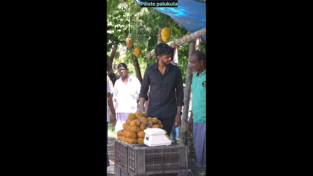
[(206, 121), (206, 70), (192, 77), (192, 119), (194, 123)]

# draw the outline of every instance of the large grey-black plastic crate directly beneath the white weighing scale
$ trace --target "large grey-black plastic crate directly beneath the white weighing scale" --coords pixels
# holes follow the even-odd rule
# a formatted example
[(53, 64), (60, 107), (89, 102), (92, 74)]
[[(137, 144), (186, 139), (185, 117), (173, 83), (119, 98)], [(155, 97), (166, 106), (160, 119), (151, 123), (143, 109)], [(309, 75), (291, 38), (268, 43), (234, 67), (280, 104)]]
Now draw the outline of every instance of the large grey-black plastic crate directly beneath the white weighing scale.
[(130, 145), (127, 151), (129, 176), (178, 173), (187, 175), (187, 146), (171, 145), (139, 147)]

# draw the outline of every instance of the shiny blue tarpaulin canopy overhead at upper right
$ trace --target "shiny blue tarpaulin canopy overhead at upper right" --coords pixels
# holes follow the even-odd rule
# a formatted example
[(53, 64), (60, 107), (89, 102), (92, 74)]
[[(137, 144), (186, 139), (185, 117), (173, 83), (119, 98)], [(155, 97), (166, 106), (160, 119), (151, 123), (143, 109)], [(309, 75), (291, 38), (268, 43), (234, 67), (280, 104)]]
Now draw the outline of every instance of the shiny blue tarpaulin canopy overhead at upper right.
[[(140, 4), (140, 1), (138, 3)], [(170, 16), (173, 21), (193, 33), (206, 27), (205, 5), (206, 3), (203, 1), (178, 0), (178, 7), (153, 8)], [(206, 35), (203, 35), (200, 38), (206, 41)]]

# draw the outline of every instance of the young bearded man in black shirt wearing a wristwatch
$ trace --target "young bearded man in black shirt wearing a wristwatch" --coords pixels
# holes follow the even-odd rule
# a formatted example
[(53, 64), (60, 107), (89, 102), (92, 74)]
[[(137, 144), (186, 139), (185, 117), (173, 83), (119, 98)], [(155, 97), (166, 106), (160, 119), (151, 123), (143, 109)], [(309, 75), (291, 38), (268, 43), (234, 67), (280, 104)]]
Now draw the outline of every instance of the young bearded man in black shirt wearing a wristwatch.
[(171, 64), (172, 49), (167, 44), (157, 44), (154, 52), (158, 61), (146, 68), (139, 94), (138, 111), (143, 112), (143, 104), (148, 100), (147, 92), (150, 85), (147, 116), (158, 118), (163, 124), (163, 129), (170, 136), (173, 124), (176, 123), (178, 127), (181, 123), (182, 106), (184, 106), (182, 72), (179, 67)]

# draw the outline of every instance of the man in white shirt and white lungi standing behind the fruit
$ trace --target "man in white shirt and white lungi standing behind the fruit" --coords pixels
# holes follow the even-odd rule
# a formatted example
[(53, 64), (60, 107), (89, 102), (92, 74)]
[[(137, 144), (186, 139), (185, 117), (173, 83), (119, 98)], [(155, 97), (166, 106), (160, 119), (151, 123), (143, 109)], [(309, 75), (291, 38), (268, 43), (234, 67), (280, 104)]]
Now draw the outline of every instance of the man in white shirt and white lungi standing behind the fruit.
[(116, 132), (123, 129), (123, 123), (126, 122), (128, 114), (137, 111), (136, 98), (141, 89), (140, 81), (135, 76), (128, 74), (128, 68), (125, 63), (117, 65), (117, 69), (121, 78), (115, 81), (113, 87), (113, 101), (116, 102)]

